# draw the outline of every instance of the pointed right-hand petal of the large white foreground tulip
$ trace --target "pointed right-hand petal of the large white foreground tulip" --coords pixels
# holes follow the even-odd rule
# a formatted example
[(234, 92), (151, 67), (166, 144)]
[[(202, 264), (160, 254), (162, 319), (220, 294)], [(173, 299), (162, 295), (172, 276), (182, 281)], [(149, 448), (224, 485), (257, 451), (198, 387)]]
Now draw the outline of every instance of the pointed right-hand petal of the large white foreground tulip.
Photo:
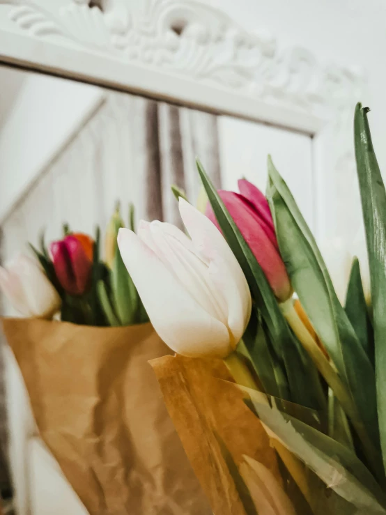
[(209, 273), (228, 306), (228, 326), (236, 343), (241, 339), (252, 309), (247, 279), (228, 243), (215, 224), (180, 198), (180, 215), (196, 252), (210, 261)]

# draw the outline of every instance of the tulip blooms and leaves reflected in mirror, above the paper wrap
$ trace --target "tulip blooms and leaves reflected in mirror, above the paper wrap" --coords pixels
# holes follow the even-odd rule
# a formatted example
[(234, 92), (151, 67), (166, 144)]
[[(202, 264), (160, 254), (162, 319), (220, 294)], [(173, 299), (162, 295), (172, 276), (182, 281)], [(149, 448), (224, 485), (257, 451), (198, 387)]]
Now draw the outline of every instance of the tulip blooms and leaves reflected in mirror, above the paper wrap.
[[(148, 322), (141, 299), (116, 252), (116, 234), (123, 227), (119, 205), (105, 237), (105, 260), (100, 260), (100, 230), (95, 240), (73, 233), (67, 224), (64, 237), (40, 249), (29, 244), (35, 259), (19, 255), (0, 268), (0, 287), (13, 307), (26, 317), (52, 318), (82, 325), (133, 325)], [(134, 231), (134, 208), (130, 206)]]

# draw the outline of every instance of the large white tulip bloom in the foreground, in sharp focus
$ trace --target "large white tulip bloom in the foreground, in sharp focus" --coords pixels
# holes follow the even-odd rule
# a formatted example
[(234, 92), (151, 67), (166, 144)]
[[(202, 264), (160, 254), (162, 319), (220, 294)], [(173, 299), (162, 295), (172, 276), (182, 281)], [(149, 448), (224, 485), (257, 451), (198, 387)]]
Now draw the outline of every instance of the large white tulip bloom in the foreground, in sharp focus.
[(240, 341), (252, 309), (247, 280), (222, 234), (180, 198), (191, 240), (176, 226), (141, 222), (119, 229), (118, 247), (151, 323), (186, 356), (225, 358)]

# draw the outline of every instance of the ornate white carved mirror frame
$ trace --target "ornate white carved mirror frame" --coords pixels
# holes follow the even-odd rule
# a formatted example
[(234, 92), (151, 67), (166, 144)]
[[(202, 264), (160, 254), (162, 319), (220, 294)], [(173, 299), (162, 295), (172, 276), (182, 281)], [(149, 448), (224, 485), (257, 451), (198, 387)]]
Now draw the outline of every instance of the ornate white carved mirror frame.
[(0, 61), (311, 134), (318, 236), (339, 233), (331, 192), (353, 182), (354, 68), (192, 0), (0, 0)]

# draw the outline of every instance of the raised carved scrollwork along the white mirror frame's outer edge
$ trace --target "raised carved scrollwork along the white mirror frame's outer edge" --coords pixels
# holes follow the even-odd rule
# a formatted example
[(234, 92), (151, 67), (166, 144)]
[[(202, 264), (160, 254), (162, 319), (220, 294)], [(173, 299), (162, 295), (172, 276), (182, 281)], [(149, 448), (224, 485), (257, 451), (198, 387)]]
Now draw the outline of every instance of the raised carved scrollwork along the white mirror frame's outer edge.
[(315, 116), (329, 130), (330, 176), (343, 174), (355, 183), (352, 116), (364, 87), (355, 68), (321, 63), (306, 48), (283, 47), (196, 0), (0, 0), (3, 30), (154, 70), (169, 84), (183, 78), (193, 93), (196, 85), (209, 86), (240, 102), (287, 110), (292, 120)]

